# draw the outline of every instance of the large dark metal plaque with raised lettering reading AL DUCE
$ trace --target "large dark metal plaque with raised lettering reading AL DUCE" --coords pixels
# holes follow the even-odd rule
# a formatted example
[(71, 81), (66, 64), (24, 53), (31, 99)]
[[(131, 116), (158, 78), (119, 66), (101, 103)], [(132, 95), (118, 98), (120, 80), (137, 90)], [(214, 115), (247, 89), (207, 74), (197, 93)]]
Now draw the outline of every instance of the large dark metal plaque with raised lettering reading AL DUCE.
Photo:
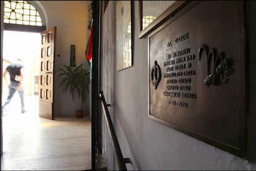
[(197, 2), (148, 36), (149, 117), (237, 156), (245, 155), (243, 16), (241, 1)]

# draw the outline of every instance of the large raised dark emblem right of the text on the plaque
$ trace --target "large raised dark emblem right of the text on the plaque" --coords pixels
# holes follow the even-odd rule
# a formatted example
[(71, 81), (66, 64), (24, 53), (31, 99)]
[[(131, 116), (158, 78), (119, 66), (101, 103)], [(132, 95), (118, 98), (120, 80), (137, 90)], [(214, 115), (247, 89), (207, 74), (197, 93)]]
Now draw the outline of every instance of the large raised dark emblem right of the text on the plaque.
[(199, 60), (202, 58), (202, 54), (205, 52), (207, 59), (207, 77), (205, 78), (204, 85), (220, 85), (220, 83), (227, 83), (228, 77), (233, 74), (234, 69), (231, 68), (233, 59), (226, 57), (224, 52), (220, 52), (217, 56), (215, 48), (209, 50), (208, 46), (203, 44), (198, 49)]

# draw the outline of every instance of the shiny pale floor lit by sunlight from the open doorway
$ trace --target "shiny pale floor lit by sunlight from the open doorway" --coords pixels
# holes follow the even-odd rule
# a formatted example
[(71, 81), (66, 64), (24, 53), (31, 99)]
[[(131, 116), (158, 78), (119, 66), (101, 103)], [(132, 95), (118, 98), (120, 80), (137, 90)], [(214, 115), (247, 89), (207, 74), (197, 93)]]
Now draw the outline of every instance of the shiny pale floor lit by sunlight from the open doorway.
[(13, 109), (2, 117), (1, 170), (91, 169), (90, 118), (38, 117)]

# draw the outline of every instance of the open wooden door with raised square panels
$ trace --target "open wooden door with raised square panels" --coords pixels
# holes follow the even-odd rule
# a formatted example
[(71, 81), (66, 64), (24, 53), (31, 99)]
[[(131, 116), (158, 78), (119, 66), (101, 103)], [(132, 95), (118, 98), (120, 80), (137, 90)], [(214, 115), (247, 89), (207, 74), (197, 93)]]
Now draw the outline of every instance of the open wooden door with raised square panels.
[(39, 116), (54, 120), (53, 74), (56, 27), (41, 32)]

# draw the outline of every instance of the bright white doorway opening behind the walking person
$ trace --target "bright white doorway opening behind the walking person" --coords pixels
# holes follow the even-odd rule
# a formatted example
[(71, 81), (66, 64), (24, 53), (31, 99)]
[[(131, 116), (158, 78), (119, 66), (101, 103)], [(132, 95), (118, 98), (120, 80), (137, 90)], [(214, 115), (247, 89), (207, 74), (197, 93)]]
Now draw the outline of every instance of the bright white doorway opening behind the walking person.
[[(22, 59), (25, 66), (25, 80), (23, 81), (25, 110), (24, 115), (38, 116), (38, 77), (40, 69), (40, 33), (24, 31), (7, 31), (3, 35), (3, 60), (2, 71), (7, 65)], [(9, 74), (7, 74), (7, 78)], [(8, 79), (7, 79), (8, 80)], [(2, 81), (2, 104), (6, 101), (8, 87), (6, 82)], [(21, 115), (20, 97), (16, 92), (10, 104), (7, 106), (4, 117), (15, 117)], [(31, 117), (30, 119), (33, 119)]]

